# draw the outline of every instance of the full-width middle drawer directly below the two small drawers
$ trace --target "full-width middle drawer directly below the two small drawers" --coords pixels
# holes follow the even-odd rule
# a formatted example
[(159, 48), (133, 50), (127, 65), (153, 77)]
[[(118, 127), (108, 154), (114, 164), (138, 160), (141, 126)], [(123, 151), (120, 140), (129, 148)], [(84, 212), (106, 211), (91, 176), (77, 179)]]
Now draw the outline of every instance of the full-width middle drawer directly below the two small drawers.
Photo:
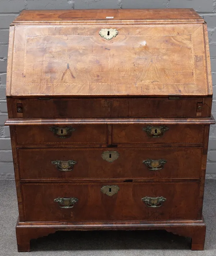
[(21, 179), (200, 178), (202, 161), (202, 148), (58, 148), (17, 152)]

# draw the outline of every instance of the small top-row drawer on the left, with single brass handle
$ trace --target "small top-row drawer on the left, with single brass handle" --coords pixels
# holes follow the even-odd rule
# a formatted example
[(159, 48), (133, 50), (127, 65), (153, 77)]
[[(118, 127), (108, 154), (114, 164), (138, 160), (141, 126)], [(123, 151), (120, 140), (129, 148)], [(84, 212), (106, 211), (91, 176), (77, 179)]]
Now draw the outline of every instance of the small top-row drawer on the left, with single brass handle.
[(16, 126), (17, 144), (107, 144), (107, 125)]

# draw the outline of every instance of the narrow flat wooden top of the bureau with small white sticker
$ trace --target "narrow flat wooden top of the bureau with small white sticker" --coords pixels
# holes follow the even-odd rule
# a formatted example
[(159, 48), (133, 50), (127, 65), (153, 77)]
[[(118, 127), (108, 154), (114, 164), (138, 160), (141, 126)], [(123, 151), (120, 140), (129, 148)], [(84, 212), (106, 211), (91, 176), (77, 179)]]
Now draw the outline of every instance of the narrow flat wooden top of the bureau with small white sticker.
[[(126, 20), (126, 21), (155, 21), (163, 20), (194, 20), (194, 22), (203, 22), (193, 9), (87, 9), (87, 10), (23, 10), (21, 14), (15, 19), (13, 24), (18, 23), (39, 23), (39, 22), (52, 22), (59, 24), (59, 22), (73, 21), (97, 21), (105, 20), (109, 22), (107, 18), (113, 17), (113, 20)], [(191, 21), (191, 22), (192, 22)]]

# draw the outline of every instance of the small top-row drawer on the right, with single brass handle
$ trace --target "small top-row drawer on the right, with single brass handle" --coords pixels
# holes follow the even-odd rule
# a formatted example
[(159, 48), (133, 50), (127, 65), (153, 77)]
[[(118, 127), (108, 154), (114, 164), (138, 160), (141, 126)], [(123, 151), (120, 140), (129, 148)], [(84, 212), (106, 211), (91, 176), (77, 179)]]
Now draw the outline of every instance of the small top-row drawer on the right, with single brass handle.
[(113, 144), (202, 143), (204, 125), (113, 125)]

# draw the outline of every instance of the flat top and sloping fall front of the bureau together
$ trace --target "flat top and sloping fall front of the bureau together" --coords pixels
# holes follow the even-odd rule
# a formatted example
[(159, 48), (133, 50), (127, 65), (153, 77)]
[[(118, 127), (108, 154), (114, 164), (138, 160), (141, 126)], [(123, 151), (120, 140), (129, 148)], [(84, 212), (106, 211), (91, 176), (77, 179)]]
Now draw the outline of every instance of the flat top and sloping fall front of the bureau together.
[(193, 9), (25, 10), (6, 95), (212, 95), (206, 24)]

